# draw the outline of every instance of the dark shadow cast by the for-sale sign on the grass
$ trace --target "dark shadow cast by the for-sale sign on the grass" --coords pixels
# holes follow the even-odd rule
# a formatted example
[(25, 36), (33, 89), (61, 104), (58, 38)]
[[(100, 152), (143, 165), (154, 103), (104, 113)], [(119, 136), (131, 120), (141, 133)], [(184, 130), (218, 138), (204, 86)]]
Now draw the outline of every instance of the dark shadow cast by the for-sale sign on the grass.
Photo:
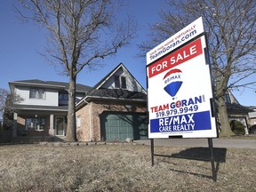
[[(165, 155), (156, 155), (156, 156), (165, 156)], [(227, 156), (227, 148), (213, 148), (213, 161), (214, 161), (214, 170), (212, 172), (215, 173), (215, 178), (213, 180), (217, 180), (217, 173), (220, 168), (221, 163), (226, 162)], [(188, 160), (197, 160), (197, 161), (204, 161), (211, 163), (212, 155), (209, 148), (187, 148), (185, 150), (180, 151), (179, 153), (172, 154), (171, 156), (165, 157), (172, 157), (172, 158), (181, 158), (181, 159), (188, 159)], [(211, 166), (211, 164), (209, 164)], [(173, 172), (183, 172), (189, 173), (200, 177), (212, 178), (211, 176), (203, 175), (196, 172), (184, 172), (176, 169), (171, 169)]]

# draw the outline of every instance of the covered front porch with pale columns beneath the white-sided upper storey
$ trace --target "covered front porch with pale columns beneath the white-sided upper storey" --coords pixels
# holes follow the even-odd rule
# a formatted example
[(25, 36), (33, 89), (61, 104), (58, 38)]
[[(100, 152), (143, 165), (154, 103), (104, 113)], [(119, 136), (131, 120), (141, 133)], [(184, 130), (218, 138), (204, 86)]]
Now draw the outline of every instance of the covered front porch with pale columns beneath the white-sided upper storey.
[(45, 113), (44, 111), (21, 111), (14, 113), (12, 140), (36, 142), (64, 140), (67, 130), (67, 113)]

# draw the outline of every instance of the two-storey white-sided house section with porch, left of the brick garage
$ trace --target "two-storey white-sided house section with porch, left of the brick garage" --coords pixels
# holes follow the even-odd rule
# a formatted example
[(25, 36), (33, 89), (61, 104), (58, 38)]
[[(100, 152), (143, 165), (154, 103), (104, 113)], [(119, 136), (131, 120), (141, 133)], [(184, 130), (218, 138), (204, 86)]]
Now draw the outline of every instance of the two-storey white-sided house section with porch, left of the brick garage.
[[(66, 135), (68, 115), (68, 83), (25, 80), (9, 83), (14, 101), (12, 139)], [(76, 100), (81, 100), (92, 87), (76, 84)]]

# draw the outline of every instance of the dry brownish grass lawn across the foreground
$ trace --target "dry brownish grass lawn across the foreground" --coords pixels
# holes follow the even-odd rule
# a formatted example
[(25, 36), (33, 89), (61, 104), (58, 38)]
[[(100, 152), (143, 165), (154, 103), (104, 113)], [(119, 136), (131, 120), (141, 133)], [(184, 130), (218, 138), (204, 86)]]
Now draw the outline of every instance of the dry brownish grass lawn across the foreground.
[[(206, 148), (157, 154), (208, 156)], [(209, 162), (155, 156), (141, 145), (0, 146), (0, 191), (256, 191), (255, 149), (215, 148)]]

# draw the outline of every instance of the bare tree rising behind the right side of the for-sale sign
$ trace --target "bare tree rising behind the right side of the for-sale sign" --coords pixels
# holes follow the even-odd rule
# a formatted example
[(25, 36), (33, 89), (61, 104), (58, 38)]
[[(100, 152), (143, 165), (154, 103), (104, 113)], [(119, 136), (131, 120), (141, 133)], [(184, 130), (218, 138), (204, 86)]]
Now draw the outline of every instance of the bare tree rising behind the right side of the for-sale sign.
[[(151, 44), (140, 44), (147, 52), (178, 32), (193, 20), (203, 17), (208, 35), (214, 77), (214, 94), (220, 116), (220, 136), (233, 134), (228, 123), (225, 93), (227, 89), (255, 85), (243, 84), (255, 76), (255, 0), (166, 0), (160, 12), (162, 21), (151, 26)], [(255, 87), (254, 87), (255, 88)]]

